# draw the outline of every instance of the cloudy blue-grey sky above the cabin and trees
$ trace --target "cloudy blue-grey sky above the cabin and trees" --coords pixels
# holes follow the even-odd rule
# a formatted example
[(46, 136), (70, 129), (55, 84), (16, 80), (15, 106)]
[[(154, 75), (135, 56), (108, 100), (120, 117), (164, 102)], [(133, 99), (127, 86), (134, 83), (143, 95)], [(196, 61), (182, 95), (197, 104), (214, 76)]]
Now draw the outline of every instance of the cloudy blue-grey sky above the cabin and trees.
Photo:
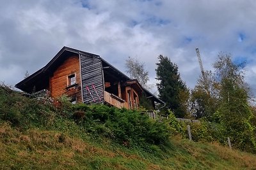
[[(218, 52), (246, 61), (256, 94), (256, 1), (0, 0), (0, 81), (14, 86), (47, 64), (63, 46), (95, 53), (120, 69), (145, 63), (156, 84), (157, 56), (170, 57), (189, 88), (200, 66), (213, 70)], [(156, 87), (151, 89), (156, 92)]]

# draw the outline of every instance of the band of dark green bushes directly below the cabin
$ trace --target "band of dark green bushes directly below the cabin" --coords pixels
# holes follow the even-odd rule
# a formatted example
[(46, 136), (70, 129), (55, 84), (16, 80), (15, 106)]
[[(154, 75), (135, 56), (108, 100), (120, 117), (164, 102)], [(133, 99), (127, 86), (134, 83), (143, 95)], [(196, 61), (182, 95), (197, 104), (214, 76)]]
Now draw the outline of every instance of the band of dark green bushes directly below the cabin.
[(67, 96), (50, 102), (24, 97), (8, 87), (1, 87), (0, 106), (0, 120), (10, 121), (21, 129), (32, 126), (68, 131), (67, 127), (78, 124), (92, 138), (109, 138), (128, 147), (146, 150), (150, 150), (150, 145), (168, 143), (170, 136), (165, 124), (140, 111), (120, 110), (103, 104), (72, 105)]

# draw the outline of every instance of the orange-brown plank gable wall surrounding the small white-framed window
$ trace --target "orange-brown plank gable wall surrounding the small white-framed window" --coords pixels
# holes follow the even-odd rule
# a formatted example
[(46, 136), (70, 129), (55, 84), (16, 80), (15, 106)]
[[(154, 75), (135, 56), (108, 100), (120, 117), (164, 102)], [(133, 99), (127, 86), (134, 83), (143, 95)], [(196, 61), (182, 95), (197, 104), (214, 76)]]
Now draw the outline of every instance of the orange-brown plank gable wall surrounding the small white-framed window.
[[(76, 85), (73, 85), (72, 87), (68, 87), (68, 76), (70, 74), (76, 75)], [(60, 97), (63, 94), (67, 94), (68, 97), (77, 97), (77, 102), (82, 102), (78, 55), (67, 57), (67, 59), (54, 71), (49, 81), (51, 97)]]

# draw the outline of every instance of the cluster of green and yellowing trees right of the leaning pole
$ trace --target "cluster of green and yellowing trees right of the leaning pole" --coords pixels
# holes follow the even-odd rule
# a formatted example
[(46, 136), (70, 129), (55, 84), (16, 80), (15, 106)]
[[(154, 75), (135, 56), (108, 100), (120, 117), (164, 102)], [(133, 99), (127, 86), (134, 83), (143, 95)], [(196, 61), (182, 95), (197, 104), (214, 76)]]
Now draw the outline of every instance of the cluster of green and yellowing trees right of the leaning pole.
[(229, 137), (234, 148), (256, 152), (256, 119), (248, 103), (245, 63), (237, 64), (232, 61), (230, 53), (220, 52), (213, 66), (215, 73), (205, 72), (205, 78), (201, 77), (191, 91), (191, 111), (196, 118), (218, 125), (219, 132), (212, 131), (209, 126), (204, 129), (202, 125), (200, 129), (195, 127), (196, 132), (206, 135), (206, 138), (212, 136), (220, 143)]

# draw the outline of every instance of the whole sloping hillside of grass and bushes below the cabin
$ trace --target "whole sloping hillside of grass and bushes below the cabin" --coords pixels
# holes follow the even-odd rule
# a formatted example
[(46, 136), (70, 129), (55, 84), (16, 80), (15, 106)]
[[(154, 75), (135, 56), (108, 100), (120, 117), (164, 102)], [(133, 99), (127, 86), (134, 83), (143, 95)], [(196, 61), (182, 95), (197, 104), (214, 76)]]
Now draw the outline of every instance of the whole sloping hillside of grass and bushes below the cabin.
[(172, 115), (152, 120), (0, 87), (0, 169), (255, 169), (256, 155), (188, 141), (182, 129)]

